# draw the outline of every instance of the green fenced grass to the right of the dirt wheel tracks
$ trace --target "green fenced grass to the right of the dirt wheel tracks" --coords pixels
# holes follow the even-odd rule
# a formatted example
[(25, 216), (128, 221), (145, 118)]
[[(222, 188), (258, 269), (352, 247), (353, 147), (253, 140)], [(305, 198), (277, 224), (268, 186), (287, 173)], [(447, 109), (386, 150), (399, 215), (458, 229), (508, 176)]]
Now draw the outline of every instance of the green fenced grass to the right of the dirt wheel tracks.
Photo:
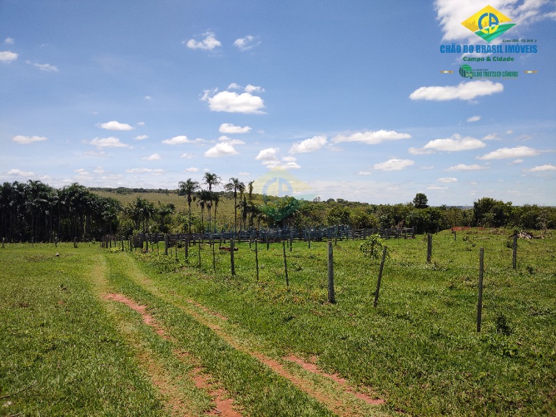
[[(456, 241), (447, 233), (434, 236), (429, 265), (422, 237), (388, 241), (377, 309), (372, 298), (378, 262), (364, 259), (357, 242), (335, 249), (335, 305), (326, 302), (325, 243), (313, 243), (311, 250), (297, 243), (288, 252), (289, 289), (279, 244), (268, 252), (259, 245), (259, 282), (245, 243), (236, 252), (236, 277), (229, 275), (229, 254), (217, 255), (213, 275), (208, 247), (202, 253), (208, 275), (193, 268), (149, 275), (163, 291), (222, 311), (230, 331), (248, 343), (278, 357), (317, 355), (323, 368), (373, 386), (391, 409), (554, 414), (555, 239), (520, 240), (514, 271), (507, 235), (484, 233), (462, 232)], [(485, 248), (486, 272), (483, 331), (477, 334), (479, 247)], [(154, 263), (158, 270), (168, 266)], [(193, 248), (190, 263), (197, 263)]]

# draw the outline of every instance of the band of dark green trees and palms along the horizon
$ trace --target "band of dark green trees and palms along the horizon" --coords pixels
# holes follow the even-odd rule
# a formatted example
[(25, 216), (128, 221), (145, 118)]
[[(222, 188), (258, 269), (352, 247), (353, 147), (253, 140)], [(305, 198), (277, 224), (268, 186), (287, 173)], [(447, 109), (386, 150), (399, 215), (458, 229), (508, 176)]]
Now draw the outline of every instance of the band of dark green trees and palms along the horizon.
[[(219, 186), (222, 190), (215, 190)], [(106, 234), (128, 236), (140, 231), (238, 233), (269, 227), (319, 229), (337, 224), (356, 229), (415, 227), (417, 234), (450, 227), (512, 227), (546, 233), (556, 227), (554, 207), (513, 206), (512, 202), (490, 197), (478, 199), (473, 207), (432, 207), (423, 193), (403, 204), (367, 204), (340, 198), (321, 201), (318, 197), (306, 201), (256, 195), (253, 181), (247, 186), (234, 177), (222, 181), (210, 172), (202, 181), (180, 181), (174, 192), (184, 197), (183, 210), (142, 197), (124, 205), (79, 183), (52, 188), (41, 181), (5, 182), (0, 186), (0, 235), (11, 242), (47, 242), (54, 238), (99, 240)], [(233, 200), (232, 213), (219, 214), (223, 199)]]

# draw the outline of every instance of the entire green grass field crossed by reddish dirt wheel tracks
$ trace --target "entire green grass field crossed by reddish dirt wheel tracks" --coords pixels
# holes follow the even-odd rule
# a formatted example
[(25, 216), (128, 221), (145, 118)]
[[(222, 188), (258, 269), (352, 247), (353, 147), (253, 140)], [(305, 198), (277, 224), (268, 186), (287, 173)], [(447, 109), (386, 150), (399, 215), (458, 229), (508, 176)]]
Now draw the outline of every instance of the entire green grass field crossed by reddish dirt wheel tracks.
[(357, 240), (334, 247), (336, 304), (325, 242), (286, 250), (288, 287), (281, 243), (258, 245), (259, 280), (248, 243), (234, 276), (208, 244), (200, 270), (197, 245), (188, 259), (163, 243), (159, 256), (6, 245), (0, 415), (198, 416), (218, 390), (243, 416), (554, 415), (556, 238), (520, 239), (513, 270), (509, 234), (441, 232), (431, 263), (423, 236), (386, 240), (377, 308), (379, 260)]

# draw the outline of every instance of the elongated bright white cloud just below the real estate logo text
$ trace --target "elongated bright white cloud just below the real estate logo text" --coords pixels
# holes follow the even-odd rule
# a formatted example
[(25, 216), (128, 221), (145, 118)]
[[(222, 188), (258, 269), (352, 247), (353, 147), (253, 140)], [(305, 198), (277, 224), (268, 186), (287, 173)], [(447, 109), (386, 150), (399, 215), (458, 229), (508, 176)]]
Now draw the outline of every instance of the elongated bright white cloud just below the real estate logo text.
[[(463, 26), (462, 26), (463, 27)], [(464, 28), (465, 29), (465, 28)], [(467, 30), (467, 29), (465, 29)], [(409, 95), (411, 100), (473, 100), (475, 97), (502, 92), (504, 85), (492, 81), (462, 81), (456, 86), (420, 87)]]

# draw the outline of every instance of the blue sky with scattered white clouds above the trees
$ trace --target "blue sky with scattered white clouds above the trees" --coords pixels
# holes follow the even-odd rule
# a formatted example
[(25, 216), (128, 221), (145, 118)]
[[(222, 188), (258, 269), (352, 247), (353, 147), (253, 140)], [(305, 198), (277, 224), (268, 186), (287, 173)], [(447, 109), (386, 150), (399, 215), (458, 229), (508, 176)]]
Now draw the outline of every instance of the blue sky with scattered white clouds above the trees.
[[(461, 25), (487, 4), (516, 24), (489, 43)], [(213, 172), (304, 198), (556, 206), (555, 24), (543, 0), (0, 0), (0, 181)], [(440, 51), (512, 40), (537, 53)], [(495, 56), (514, 61), (464, 62)]]

